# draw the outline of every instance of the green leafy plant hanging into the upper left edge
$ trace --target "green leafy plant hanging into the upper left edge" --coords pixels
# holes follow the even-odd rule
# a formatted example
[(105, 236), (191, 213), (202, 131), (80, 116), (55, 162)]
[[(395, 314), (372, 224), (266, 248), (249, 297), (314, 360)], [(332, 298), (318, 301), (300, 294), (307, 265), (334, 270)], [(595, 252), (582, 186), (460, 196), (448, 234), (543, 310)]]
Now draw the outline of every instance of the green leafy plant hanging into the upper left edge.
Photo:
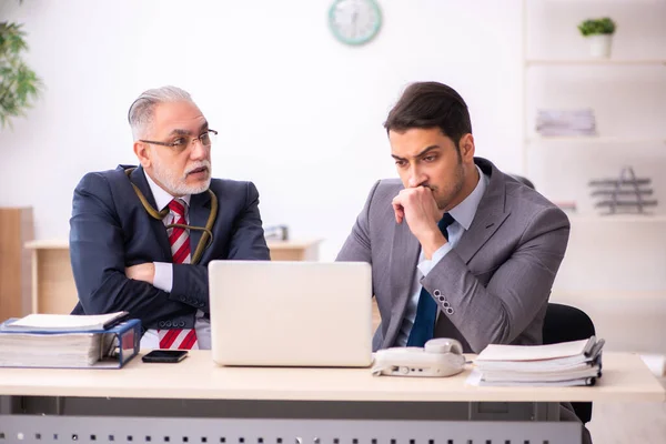
[(0, 22), (0, 128), (24, 114), (42, 88), (41, 80), (22, 60), (28, 50), (22, 24)]

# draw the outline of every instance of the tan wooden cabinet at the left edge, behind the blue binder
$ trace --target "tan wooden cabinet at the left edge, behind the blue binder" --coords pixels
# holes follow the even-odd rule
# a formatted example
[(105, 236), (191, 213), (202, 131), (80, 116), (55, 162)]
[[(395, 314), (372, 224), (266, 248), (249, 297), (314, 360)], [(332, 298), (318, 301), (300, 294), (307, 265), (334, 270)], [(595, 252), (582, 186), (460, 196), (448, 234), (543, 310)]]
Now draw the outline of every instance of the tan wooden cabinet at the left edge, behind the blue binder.
[(0, 321), (30, 312), (32, 209), (0, 209)]

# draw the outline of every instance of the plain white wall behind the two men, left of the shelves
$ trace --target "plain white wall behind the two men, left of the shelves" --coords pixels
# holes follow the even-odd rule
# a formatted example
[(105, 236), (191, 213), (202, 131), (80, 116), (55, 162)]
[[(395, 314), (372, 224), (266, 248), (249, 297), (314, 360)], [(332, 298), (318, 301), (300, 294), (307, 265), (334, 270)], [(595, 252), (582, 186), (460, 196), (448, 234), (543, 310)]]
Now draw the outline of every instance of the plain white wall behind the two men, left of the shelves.
[(0, 134), (0, 206), (32, 205), (37, 239), (65, 238), (77, 182), (134, 162), (128, 108), (163, 84), (189, 90), (221, 132), (214, 175), (254, 181), (264, 224), (325, 239), (324, 260), (372, 183), (396, 175), (382, 123), (408, 82), (455, 88), (477, 154), (519, 172), (521, 1), (380, 0), (384, 26), (362, 48), (333, 39), (332, 2), (2, 2), (47, 90)]

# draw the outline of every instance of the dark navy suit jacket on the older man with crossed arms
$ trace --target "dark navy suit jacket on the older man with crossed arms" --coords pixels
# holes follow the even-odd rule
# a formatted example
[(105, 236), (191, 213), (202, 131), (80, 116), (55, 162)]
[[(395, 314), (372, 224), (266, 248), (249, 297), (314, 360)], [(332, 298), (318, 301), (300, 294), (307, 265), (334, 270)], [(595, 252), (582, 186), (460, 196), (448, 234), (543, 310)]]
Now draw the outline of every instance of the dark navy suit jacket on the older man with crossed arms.
[[(79, 293), (73, 314), (129, 311), (144, 329), (194, 327), (196, 310), (209, 313), (208, 263), (212, 260), (269, 260), (259, 193), (251, 182), (213, 179), (218, 216), (212, 244), (199, 264), (174, 264), (170, 293), (125, 278), (125, 266), (172, 262), (167, 230), (151, 218), (132, 189), (124, 170), (88, 173), (74, 190), (70, 220), (70, 256)], [(142, 168), (131, 174), (151, 205), (155, 205)], [(204, 226), (211, 211), (208, 192), (190, 201), (190, 225)], [(201, 231), (190, 231), (192, 254)]]

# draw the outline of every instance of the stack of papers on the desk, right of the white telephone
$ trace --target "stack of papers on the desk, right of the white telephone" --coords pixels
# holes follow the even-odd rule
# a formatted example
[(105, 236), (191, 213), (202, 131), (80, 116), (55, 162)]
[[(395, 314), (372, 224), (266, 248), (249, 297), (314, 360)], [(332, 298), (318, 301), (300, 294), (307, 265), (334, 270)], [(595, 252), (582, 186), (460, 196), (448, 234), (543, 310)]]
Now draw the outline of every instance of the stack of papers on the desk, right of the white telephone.
[(602, 376), (604, 340), (549, 345), (488, 345), (474, 361), (474, 385), (594, 385)]

